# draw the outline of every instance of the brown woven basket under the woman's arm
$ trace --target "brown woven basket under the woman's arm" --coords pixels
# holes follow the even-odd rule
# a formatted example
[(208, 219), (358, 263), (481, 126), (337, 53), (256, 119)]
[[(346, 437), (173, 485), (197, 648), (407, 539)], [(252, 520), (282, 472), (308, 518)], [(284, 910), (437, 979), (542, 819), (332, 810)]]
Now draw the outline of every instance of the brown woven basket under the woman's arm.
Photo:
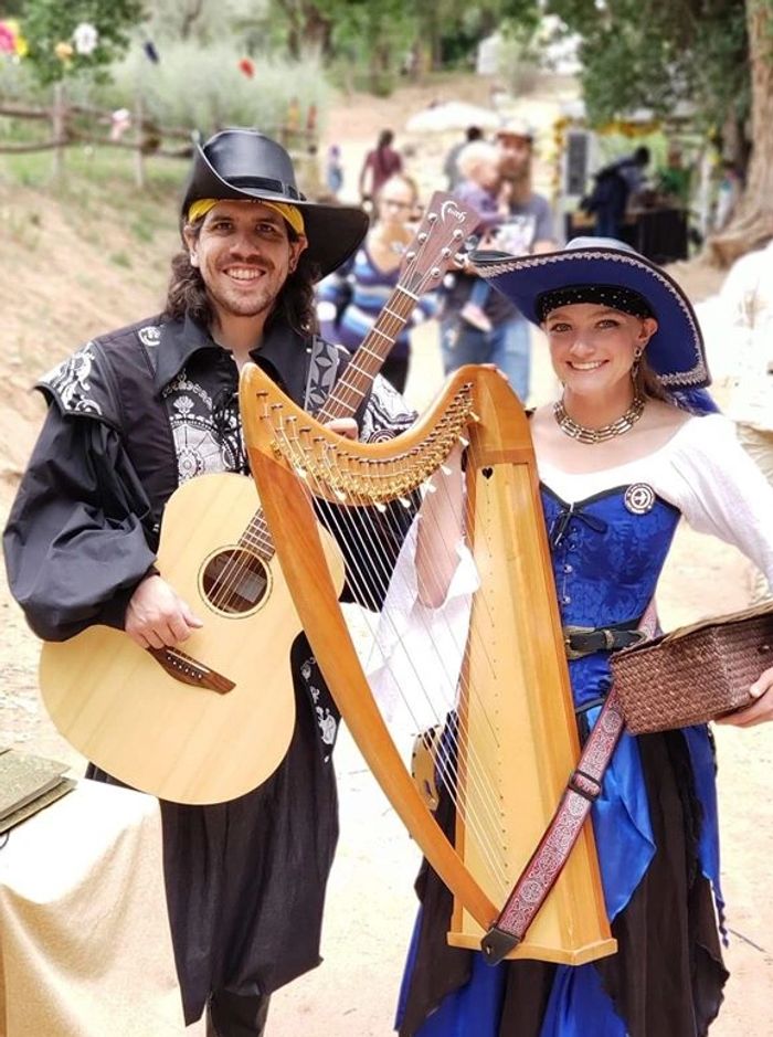
[(773, 666), (773, 604), (681, 627), (611, 656), (633, 734), (705, 723), (752, 701)]

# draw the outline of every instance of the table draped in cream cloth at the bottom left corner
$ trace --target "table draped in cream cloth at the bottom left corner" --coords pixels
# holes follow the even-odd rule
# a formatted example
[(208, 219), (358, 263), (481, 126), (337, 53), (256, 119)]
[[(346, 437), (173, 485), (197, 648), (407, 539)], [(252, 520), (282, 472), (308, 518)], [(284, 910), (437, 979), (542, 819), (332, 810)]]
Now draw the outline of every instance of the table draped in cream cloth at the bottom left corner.
[(158, 801), (83, 779), (0, 849), (0, 1034), (183, 1033)]

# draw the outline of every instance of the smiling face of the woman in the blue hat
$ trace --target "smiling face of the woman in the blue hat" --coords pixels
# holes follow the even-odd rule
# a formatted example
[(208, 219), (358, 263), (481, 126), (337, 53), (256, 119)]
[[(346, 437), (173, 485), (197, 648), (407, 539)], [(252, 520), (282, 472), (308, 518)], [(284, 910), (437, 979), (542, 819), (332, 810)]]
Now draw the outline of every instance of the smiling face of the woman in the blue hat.
[(572, 303), (551, 310), (542, 330), (559, 379), (571, 392), (585, 394), (631, 384), (636, 349), (644, 349), (657, 321), (597, 303)]

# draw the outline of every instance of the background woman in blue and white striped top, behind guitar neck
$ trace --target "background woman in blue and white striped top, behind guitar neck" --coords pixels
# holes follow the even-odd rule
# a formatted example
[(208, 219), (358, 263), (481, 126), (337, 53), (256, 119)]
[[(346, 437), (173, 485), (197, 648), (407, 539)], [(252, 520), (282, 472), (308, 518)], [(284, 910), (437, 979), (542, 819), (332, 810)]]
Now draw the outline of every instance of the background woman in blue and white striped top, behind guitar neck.
[[(400, 279), (403, 253), (413, 240), (411, 221), (419, 190), (399, 173), (381, 188), (375, 201), (377, 220), (352, 260), (327, 277), (318, 289), (317, 315), (322, 337), (354, 352), (375, 324)], [(407, 378), (410, 331), (435, 311), (432, 295), (419, 299), (396, 336), (381, 373), (403, 392)]]

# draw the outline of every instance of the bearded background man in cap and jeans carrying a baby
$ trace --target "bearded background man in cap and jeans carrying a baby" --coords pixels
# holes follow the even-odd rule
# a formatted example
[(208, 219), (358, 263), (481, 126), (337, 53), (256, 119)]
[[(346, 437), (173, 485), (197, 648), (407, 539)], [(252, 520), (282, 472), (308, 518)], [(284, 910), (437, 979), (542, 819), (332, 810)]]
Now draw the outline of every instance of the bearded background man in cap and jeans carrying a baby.
[[(496, 234), (480, 248), (515, 255), (550, 252), (557, 247), (550, 204), (531, 187), (533, 134), (512, 120), (497, 133), (500, 190), (506, 215)], [(518, 309), (498, 292), (483, 301), (477, 326), (465, 319), (476, 278), (459, 275), (447, 289), (441, 318), (441, 346), (446, 373), (465, 363), (494, 363), (526, 402), (529, 395), (531, 334)], [(477, 315), (476, 315), (477, 316)]]

